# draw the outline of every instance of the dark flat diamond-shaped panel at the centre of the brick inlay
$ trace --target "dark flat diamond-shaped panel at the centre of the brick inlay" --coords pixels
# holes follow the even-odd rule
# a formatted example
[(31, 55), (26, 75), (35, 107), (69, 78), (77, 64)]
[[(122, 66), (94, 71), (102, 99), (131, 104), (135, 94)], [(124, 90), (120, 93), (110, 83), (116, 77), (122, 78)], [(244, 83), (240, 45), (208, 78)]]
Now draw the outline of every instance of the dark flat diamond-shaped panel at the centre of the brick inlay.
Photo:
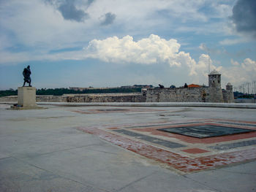
[(247, 133), (250, 131), (255, 131), (252, 129), (245, 129), (245, 128), (233, 128), (233, 127), (212, 126), (212, 125), (159, 128), (157, 130), (166, 131), (173, 134), (182, 134), (185, 136), (197, 137), (197, 138), (218, 137), (218, 136), (224, 136), (224, 135), (230, 135), (230, 134), (241, 134), (241, 133)]

